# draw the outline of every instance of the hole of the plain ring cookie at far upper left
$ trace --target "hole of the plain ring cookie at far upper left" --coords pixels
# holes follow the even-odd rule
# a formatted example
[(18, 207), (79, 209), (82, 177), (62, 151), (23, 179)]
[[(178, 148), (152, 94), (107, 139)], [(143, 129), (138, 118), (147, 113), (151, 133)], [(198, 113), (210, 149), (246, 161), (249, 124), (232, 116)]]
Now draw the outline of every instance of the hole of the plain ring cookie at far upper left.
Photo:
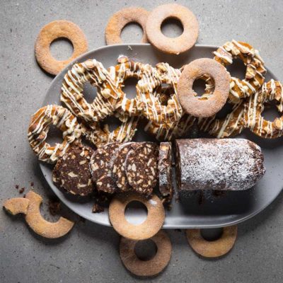
[(74, 46), (67, 38), (60, 37), (51, 42), (50, 52), (55, 59), (63, 61), (71, 57), (71, 54), (74, 52)]

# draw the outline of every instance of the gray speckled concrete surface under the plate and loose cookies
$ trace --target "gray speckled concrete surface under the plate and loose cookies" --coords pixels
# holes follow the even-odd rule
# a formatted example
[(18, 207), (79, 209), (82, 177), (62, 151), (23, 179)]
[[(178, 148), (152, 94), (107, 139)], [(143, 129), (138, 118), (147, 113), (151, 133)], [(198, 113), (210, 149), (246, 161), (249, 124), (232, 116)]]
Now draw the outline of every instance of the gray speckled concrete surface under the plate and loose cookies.
[[(283, 1), (177, 1), (198, 18), (198, 43), (221, 45), (235, 38), (260, 49), (262, 57), (283, 80)], [(68, 19), (86, 33), (89, 48), (105, 44), (103, 30), (114, 11), (125, 6), (151, 10), (163, 1), (0, 1), (0, 202), (17, 197), (15, 185), (45, 197), (52, 192), (42, 180), (37, 158), (27, 141), (30, 115), (42, 105), (52, 81), (36, 64), (35, 37), (40, 28)], [(170, 27), (169, 27), (170, 28)], [(176, 28), (178, 33), (178, 27)], [(140, 29), (127, 28), (127, 42), (139, 40)], [(54, 54), (71, 53), (66, 42), (52, 46)], [(62, 57), (61, 57), (62, 58)], [(267, 188), (268, 190), (268, 188)], [(173, 243), (170, 265), (146, 282), (282, 282), (283, 195), (264, 212), (238, 226), (238, 240), (220, 260), (203, 260), (187, 246), (180, 231), (168, 231)], [(65, 213), (70, 214), (68, 209)], [(75, 219), (76, 216), (73, 215)], [(59, 241), (35, 236), (21, 216), (0, 211), (0, 282), (134, 282), (118, 254), (119, 236), (112, 229), (78, 221)]]

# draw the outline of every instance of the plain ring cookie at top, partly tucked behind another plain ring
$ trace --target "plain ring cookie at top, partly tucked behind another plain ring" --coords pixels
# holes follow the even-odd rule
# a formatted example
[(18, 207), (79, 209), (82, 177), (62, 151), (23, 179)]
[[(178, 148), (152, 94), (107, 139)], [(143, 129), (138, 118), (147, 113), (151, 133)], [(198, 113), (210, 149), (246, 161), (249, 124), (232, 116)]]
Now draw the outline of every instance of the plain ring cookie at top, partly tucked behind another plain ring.
[(138, 23), (141, 25), (144, 35), (142, 36), (141, 43), (148, 42), (146, 39), (146, 20), (149, 16), (149, 12), (144, 8), (129, 7), (122, 8), (117, 11), (109, 19), (108, 24), (105, 28), (105, 40), (107, 45), (114, 45), (122, 43), (121, 33), (122, 29), (128, 23)]

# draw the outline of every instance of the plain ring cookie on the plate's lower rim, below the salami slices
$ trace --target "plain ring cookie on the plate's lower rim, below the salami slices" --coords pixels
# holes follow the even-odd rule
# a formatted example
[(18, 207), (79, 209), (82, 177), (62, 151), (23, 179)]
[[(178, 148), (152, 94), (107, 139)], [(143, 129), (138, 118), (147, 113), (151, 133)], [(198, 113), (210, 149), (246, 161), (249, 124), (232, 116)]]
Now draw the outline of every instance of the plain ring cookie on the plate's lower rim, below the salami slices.
[[(146, 220), (134, 225), (125, 218), (125, 208), (129, 202), (141, 202), (147, 208)], [(146, 240), (154, 236), (162, 227), (165, 219), (165, 211), (161, 200), (156, 195), (146, 198), (134, 192), (124, 192), (116, 195), (109, 206), (110, 222), (121, 236), (131, 240)]]

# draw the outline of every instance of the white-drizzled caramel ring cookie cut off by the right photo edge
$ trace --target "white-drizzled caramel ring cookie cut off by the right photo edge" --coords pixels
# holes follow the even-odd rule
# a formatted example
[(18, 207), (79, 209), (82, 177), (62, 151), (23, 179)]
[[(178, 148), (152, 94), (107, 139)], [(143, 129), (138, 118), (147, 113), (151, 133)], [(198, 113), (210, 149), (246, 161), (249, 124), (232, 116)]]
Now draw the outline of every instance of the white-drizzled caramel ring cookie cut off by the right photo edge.
[[(262, 112), (265, 110), (265, 103), (276, 101), (277, 109), (282, 114), (274, 121), (265, 120)], [(246, 127), (254, 134), (265, 139), (274, 139), (283, 135), (283, 87), (279, 81), (268, 81), (264, 83), (261, 91), (250, 96), (245, 103)]]

